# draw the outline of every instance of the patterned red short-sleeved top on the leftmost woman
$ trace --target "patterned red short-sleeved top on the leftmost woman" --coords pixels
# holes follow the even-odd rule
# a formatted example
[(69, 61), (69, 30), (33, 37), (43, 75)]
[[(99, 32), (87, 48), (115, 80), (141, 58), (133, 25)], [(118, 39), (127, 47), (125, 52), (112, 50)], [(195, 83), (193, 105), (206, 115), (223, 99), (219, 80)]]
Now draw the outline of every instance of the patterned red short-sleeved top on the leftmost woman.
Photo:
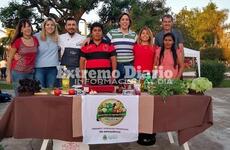
[(18, 38), (12, 45), (12, 48), (15, 48), (17, 51), (16, 53), (20, 56), (18, 60), (13, 58), (11, 69), (16, 70), (19, 72), (24, 73), (31, 73), (33, 72), (35, 60), (36, 60), (36, 53), (38, 47), (38, 40), (36, 37), (33, 37), (34, 45), (33, 46), (26, 46), (22, 38)]

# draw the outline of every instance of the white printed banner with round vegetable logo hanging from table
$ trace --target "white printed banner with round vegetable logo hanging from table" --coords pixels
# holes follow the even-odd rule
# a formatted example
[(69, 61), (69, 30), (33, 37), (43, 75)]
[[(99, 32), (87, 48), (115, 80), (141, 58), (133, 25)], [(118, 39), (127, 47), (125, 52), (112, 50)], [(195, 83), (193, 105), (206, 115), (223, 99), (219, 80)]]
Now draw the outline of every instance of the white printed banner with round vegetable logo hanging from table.
[(138, 139), (139, 96), (82, 96), (83, 143), (123, 143)]

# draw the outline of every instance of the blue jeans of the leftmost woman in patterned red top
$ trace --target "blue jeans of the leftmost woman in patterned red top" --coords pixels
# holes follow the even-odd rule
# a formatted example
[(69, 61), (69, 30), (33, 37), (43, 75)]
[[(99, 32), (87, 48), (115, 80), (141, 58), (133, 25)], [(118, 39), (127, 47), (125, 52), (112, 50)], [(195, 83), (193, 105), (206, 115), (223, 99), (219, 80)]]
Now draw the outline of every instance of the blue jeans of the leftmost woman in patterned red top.
[(15, 95), (18, 95), (18, 87), (20, 86), (19, 80), (21, 79), (33, 79), (34, 74), (33, 73), (24, 73), (24, 72), (18, 72), (15, 70), (12, 70), (11, 72), (12, 75), (12, 82), (13, 82), (13, 88), (15, 91)]

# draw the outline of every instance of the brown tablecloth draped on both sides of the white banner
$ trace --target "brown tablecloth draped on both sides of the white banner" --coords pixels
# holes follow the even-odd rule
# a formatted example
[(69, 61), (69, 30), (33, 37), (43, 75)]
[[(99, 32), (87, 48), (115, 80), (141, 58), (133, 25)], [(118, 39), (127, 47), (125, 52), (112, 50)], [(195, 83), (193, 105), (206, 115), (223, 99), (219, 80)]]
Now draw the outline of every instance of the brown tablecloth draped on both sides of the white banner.
[[(147, 97), (140, 96), (140, 132), (178, 131), (179, 144), (183, 144), (213, 124), (209, 96), (171, 96), (166, 103), (159, 96)], [(72, 97), (62, 96), (16, 97), (0, 120), (0, 138), (80, 141), (81, 133), (73, 138), (72, 102)], [(80, 111), (77, 116), (81, 124)], [(81, 125), (77, 128), (81, 131)]]

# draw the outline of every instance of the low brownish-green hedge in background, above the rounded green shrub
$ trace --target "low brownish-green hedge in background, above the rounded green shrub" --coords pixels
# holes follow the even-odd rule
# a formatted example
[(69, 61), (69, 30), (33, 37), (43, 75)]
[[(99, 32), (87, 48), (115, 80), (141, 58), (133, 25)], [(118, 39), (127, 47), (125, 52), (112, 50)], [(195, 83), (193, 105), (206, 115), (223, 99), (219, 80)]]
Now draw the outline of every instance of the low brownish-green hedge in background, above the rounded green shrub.
[(209, 47), (200, 50), (202, 60), (223, 60), (223, 48)]

